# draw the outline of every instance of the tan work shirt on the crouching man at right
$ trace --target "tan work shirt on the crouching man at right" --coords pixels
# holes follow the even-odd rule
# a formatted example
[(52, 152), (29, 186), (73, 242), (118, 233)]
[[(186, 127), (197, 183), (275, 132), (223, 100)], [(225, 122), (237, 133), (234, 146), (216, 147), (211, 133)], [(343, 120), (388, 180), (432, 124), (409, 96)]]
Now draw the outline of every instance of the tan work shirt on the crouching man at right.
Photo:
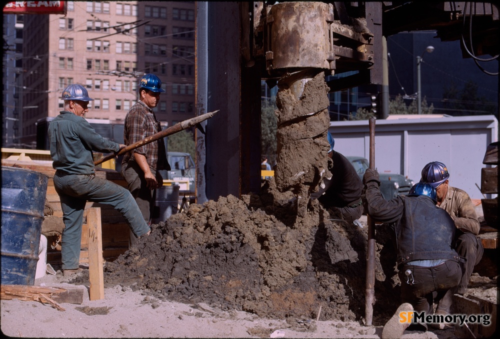
[(475, 213), (474, 204), (469, 195), (460, 188), (448, 186), (446, 196), (439, 205), (453, 218), (455, 226), (463, 232), (479, 234), (479, 221)]

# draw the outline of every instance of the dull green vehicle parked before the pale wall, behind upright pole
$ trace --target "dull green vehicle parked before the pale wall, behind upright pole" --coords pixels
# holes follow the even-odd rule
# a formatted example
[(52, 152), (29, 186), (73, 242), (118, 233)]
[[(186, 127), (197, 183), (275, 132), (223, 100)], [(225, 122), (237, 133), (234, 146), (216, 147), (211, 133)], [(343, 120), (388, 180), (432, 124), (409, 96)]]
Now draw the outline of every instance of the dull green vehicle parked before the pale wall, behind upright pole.
[[(363, 179), (366, 168), (369, 167), (369, 162), (361, 156), (346, 156), (352, 163), (354, 169), (361, 180)], [(378, 173), (380, 175), (380, 192), (385, 200), (390, 200), (398, 195), (408, 194), (414, 182), (404, 175), (396, 173)]]

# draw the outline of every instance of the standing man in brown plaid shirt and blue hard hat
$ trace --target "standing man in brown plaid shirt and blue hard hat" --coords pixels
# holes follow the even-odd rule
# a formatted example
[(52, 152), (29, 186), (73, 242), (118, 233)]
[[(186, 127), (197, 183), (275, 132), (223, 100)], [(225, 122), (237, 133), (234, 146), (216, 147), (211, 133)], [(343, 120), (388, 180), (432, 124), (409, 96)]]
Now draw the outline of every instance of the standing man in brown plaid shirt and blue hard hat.
[[(152, 108), (156, 107), (159, 95), (164, 90), (161, 80), (154, 74), (143, 75), (138, 83), (139, 98), (126, 113), (123, 139), (126, 145), (143, 140), (161, 131), (160, 122)], [(121, 162), (121, 175), (128, 190), (135, 198), (142, 217), (150, 224), (154, 208), (156, 188), (163, 184), (159, 170), (170, 170), (163, 139), (147, 143), (126, 152)], [(130, 236), (133, 244), (134, 237)]]

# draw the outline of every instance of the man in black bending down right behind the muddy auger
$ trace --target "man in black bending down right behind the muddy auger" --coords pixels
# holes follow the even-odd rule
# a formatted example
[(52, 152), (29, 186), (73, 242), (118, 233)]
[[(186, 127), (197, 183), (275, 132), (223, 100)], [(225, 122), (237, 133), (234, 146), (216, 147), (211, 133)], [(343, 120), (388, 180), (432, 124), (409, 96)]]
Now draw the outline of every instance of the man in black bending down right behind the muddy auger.
[(330, 149), (328, 157), (333, 160), (330, 178), (324, 178), (319, 190), (311, 194), (311, 199), (316, 199), (325, 209), (333, 208), (347, 222), (360, 225), (357, 219), (363, 214), (361, 191), (363, 184), (357, 175), (352, 163), (342, 154), (333, 150), (335, 140), (330, 132), (327, 133)]

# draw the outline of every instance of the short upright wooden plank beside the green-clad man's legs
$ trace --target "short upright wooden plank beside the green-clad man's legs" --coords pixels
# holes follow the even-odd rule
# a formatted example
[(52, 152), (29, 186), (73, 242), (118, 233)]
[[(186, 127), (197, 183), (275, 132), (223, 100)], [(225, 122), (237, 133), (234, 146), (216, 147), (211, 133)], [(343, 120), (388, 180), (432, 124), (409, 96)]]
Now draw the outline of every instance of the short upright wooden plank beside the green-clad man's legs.
[(104, 271), (102, 259), (102, 233), (100, 208), (87, 210), (88, 226), (88, 279), (90, 281), (89, 299), (104, 298)]

